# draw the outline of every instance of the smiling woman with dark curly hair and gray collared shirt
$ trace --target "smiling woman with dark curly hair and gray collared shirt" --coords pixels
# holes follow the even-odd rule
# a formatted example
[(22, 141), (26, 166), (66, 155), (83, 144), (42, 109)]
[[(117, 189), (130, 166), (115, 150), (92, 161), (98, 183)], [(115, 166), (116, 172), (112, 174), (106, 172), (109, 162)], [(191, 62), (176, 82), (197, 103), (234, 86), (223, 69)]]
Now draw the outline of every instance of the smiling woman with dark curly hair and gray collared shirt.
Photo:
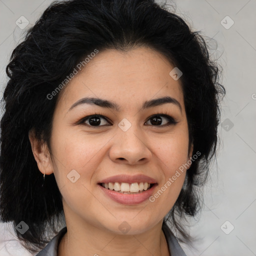
[(25, 248), (185, 255), (224, 94), (199, 33), (152, 0), (53, 2), (6, 72), (0, 216)]

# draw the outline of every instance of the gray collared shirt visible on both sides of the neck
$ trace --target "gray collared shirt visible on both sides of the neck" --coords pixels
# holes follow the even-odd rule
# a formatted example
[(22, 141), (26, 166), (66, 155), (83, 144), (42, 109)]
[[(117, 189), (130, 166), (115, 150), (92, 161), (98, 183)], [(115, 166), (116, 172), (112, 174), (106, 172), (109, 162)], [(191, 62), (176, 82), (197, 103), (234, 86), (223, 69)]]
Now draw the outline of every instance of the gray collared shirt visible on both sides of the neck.
[[(62, 236), (66, 233), (66, 226), (63, 227), (50, 241), (49, 243), (39, 251), (35, 256), (57, 256), (58, 244)], [(165, 235), (169, 251), (171, 256), (186, 256), (185, 252), (180, 247), (176, 237), (171, 232), (169, 227), (163, 222), (162, 231)]]

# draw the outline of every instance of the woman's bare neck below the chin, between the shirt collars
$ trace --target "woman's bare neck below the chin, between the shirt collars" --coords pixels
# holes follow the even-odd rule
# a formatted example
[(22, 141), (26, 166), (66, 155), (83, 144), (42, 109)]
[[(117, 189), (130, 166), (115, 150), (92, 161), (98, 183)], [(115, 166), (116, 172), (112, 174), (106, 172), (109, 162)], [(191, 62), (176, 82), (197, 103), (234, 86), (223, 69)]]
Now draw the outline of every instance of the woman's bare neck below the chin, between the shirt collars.
[(116, 234), (88, 223), (66, 219), (57, 256), (169, 256), (168, 244), (161, 229), (162, 220), (152, 228), (134, 235)]

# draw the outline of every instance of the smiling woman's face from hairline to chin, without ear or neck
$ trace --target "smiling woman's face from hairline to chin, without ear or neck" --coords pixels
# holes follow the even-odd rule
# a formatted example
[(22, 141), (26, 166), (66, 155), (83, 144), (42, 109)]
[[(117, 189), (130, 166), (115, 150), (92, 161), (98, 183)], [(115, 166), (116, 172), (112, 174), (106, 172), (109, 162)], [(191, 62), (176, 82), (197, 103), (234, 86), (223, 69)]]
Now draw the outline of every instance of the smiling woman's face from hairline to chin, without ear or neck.
[[(136, 234), (171, 209), (186, 170), (176, 171), (190, 156), (181, 85), (169, 75), (173, 68), (150, 48), (109, 49), (99, 51), (66, 85), (50, 142), (66, 218), (114, 233), (128, 227)], [(170, 100), (156, 101), (163, 97)], [(85, 118), (95, 114), (101, 117)], [(104, 188), (103, 181), (110, 187), (108, 182), (118, 182), (114, 189), (124, 190), (145, 189), (141, 182), (154, 185), (123, 194)]]

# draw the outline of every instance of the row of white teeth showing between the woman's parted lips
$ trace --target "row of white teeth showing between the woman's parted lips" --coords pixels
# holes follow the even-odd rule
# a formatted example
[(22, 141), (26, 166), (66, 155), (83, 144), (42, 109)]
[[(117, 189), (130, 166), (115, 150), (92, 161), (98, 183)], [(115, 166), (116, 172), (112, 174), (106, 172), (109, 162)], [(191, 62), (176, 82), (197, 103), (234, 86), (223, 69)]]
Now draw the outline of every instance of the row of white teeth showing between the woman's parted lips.
[(137, 194), (142, 193), (150, 189), (154, 183), (148, 182), (135, 182), (135, 183), (126, 183), (126, 182), (108, 182), (108, 183), (99, 183), (102, 187), (108, 190), (114, 190), (123, 194)]

